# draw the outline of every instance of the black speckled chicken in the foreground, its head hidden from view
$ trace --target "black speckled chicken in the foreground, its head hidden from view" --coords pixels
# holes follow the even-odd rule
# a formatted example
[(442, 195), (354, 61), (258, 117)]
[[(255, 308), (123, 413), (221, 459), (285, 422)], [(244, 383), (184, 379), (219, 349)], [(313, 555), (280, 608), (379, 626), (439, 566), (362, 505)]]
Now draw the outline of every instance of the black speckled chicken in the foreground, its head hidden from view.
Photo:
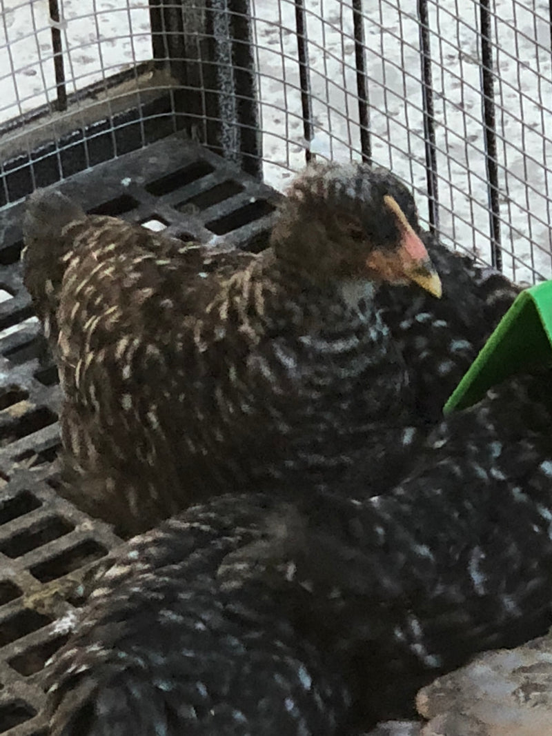
[(55, 658), (52, 736), (353, 735), (544, 633), (550, 378), (447, 417), (385, 495), (227, 495), (131, 542)]

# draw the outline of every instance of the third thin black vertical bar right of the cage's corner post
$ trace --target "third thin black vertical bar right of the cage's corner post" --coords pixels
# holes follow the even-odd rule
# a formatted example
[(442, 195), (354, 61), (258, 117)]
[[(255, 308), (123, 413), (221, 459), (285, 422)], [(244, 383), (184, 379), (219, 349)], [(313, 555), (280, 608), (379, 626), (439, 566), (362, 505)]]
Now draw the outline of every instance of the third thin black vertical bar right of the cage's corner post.
[(434, 88), (431, 78), (431, 47), (427, 0), (418, 0), (420, 28), (420, 64), (422, 67), (422, 107), (425, 144), (425, 177), (428, 185), (429, 229), (439, 228), (439, 191), (437, 185), (437, 156), (435, 144)]

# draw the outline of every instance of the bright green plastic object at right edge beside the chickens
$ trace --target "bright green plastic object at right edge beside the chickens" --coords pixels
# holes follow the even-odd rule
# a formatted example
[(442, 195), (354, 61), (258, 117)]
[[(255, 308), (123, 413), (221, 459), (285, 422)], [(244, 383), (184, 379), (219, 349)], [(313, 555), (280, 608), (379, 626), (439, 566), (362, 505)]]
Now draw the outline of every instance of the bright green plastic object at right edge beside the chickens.
[(443, 407), (449, 414), (481, 400), (509, 375), (552, 366), (552, 280), (522, 291)]

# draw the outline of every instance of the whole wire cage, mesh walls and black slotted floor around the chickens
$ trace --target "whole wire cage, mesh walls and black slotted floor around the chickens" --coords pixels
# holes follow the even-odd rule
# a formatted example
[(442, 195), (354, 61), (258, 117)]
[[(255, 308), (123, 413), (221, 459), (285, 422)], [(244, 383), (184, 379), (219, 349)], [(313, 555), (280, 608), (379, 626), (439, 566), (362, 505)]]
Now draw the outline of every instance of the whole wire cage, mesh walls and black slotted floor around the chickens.
[(544, 0), (2, 0), (0, 733), (45, 734), (48, 657), (120, 540), (57, 494), (55, 367), (22, 202), (59, 183), (154, 230), (266, 244), (313, 156), (387, 166), (450, 247), (552, 276)]

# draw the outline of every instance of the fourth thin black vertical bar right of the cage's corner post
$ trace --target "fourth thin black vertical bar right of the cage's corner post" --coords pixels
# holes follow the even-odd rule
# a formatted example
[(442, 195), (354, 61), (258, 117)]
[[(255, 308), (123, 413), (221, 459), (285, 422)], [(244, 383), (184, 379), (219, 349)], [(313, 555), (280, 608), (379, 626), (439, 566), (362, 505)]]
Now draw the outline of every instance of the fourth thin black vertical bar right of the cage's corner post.
[(487, 197), (489, 202), (489, 227), (491, 231), (491, 261), (502, 269), (500, 250), (500, 202), (498, 191), (498, 163), (495, 121), (495, 90), (492, 76), (492, 43), (490, 0), (480, 0), (481, 22), (481, 89), (483, 91), (483, 117), (485, 124), (485, 166)]

